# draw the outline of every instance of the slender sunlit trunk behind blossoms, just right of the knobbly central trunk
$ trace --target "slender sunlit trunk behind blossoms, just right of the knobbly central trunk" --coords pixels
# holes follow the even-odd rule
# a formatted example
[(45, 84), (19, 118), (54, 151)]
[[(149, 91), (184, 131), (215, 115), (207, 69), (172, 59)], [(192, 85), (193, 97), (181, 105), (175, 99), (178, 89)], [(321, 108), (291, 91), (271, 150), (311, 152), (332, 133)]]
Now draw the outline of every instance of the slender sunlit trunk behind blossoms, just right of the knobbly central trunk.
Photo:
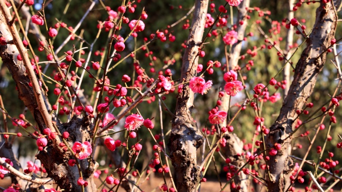
[[(237, 21), (243, 20), (242, 25), (238, 25), (236, 28), (237, 31), (237, 36), (238, 36), (238, 41), (234, 43), (231, 47), (231, 51), (229, 53), (229, 62), (227, 63), (227, 68), (229, 67), (230, 69), (234, 69), (235, 66), (238, 64), (238, 60), (240, 57), (240, 52), (242, 48), (242, 40), (244, 37), (245, 29), (247, 26), (247, 19), (245, 18), (247, 14), (246, 8), (249, 7), (249, 0), (243, 0), (239, 4), (239, 11), (237, 14)], [(224, 91), (224, 84), (225, 81), (222, 82), (221, 85), (221, 91)], [(221, 97), (222, 104), (218, 106), (218, 110), (221, 111), (228, 111), (229, 108), (229, 97), (230, 95), (224, 94)], [(226, 126), (226, 120), (223, 121), (220, 124), (220, 127)], [(240, 167), (242, 166), (245, 162), (243, 159), (242, 154), (243, 152), (243, 142), (237, 137), (235, 133), (230, 133), (226, 132), (224, 135), (225, 139), (227, 140), (226, 146), (222, 147), (222, 153), (225, 155), (225, 157), (229, 157), (231, 159), (231, 164)], [(234, 178), (234, 182), (236, 186), (240, 186), (241, 189), (237, 190), (236, 187), (233, 188), (231, 187), (231, 191), (248, 191), (248, 186), (249, 186), (249, 179), (248, 175), (245, 175), (243, 172), (240, 172), (238, 176)]]

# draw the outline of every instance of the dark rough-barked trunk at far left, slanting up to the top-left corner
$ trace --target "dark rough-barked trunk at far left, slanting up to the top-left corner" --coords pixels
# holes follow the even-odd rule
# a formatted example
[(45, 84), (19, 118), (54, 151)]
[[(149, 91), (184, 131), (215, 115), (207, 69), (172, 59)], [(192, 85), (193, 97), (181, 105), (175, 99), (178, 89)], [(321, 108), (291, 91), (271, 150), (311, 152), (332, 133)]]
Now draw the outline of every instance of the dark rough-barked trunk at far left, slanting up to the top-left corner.
[[(4, 36), (7, 41), (14, 41), (15, 44), (2, 45), (0, 47), (0, 56), (16, 82), (19, 99), (22, 100), (25, 106), (30, 110), (39, 130), (42, 132), (42, 130), (47, 127), (48, 123), (46, 123), (46, 120), (51, 121), (51, 119), (43, 118), (43, 111), (39, 108), (39, 106), (42, 106), (42, 103), (39, 103), (41, 102), (41, 99), (37, 99), (36, 94), (38, 94), (38, 97), (44, 97), (44, 95), (41, 94), (40, 88), (38, 88), (40, 92), (36, 92), (37, 89), (35, 88), (33, 90), (32, 86), (29, 85), (30, 82), (32, 82), (31, 79), (36, 81), (36, 76), (28, 73), (29, 70), (26, 70), (24, 63), (17, 60), (17, 55), (19, 54), (17, 46), (19, 42), (14, 40), (12, 36), (12, 33), (14, 34), (17, 31), (16, 29), (14, 30), (8, 27), (3, 11), (4, 10), (0, 11), (1, 35)], [(25, 54), (27, 54), (27, 52), (25, 52)], [(42, 102), (48, 102), (47, 98), (43, 98)], [(54, 130), (52, 125), (48, 127), (51, 128), (51, 130)], [(83, 142), (85, 140), (90, 140), (89, 132), (91, 132), (92, 127), (90, 126), (87, 117), (82, 118), (80, 116), (75, 116), (71, 119), (70, 123), (66, 125), (57, 124), (57, 127), (60, 132), (68, 130), (70, 133), (70, 137), (67, 140), (69, 146), (72, 146), (75, 141)], [(58, 136), (56, 138), (59, 140)], [(38, 153), (37, 158), (44, 164), (48, 176), (54, 178), (56, 183), (61, 188), (65, 189), (65, 191), (81, 190), (77, 185), (77, 179), (79, 177), (78, 169), (76, 166), (71, 167), (67, 164), (67, 161), (70, 158), (73, 158), (69, 151), (62, 150), (61, 147), (58, 146), (58, 143), (53, 143), (49, 140), (44, 150)], [(89, 168), (87, 159), (79, 160), (79, 163), (81, 165), (83, 179), (88, 182), (85, 191), (95, 191), (96, 186), (93, 181), (93, 171), (96, 169), (97, 163), (92, 161)]]

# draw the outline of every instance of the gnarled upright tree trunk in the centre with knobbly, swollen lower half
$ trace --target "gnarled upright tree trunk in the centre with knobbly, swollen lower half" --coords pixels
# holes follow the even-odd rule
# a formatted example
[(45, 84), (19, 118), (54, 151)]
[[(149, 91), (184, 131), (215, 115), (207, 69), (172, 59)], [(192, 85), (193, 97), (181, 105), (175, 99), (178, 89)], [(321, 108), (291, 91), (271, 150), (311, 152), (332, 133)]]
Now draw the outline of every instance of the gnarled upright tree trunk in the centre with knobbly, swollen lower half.
[[(204, 32), (208, 0), (196, 0), (192, 23), (181, 67), (181, 81), (189, 81), (195, 74), (198, 64), (198, 48)], [(169, 137), (169, 151), (175, 168), (175, 185), (178, 191), (195, 191), (200, 178), (196, 150), (203, 138), (197, 124), (191, 117), (193, 92), (188, 83), (184, 84), (177, 96), (175, 117), (172, 119), (172, 131)]]

